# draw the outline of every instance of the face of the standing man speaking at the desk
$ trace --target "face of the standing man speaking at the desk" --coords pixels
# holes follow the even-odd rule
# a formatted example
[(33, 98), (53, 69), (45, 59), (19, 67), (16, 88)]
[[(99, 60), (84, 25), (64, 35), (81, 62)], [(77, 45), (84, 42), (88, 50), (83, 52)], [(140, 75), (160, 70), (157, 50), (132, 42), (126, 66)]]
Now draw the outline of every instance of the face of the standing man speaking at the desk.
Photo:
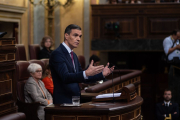
[(72, 49), (77, 48), (82, 37), (81, 30), (72, 29), (70, 34), (65, 34), (65, 43)]

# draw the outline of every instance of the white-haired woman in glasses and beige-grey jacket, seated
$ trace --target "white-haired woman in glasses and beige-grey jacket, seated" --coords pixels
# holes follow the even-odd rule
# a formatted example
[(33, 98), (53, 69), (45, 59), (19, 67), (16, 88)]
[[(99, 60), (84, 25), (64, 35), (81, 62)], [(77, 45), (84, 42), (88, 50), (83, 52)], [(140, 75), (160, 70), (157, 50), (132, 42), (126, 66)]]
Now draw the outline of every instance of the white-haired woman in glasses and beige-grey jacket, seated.
[(44, 108), (52, 104), (52, 96), (40, 80), (42, 77), (42, 67), (39, 64), (31, 63), (27, 69), (31, 77), (29, 77), (24, 86), (25, 102), (39, 102), (40, 106), (37, 111), (38, 118), (44, 120)]

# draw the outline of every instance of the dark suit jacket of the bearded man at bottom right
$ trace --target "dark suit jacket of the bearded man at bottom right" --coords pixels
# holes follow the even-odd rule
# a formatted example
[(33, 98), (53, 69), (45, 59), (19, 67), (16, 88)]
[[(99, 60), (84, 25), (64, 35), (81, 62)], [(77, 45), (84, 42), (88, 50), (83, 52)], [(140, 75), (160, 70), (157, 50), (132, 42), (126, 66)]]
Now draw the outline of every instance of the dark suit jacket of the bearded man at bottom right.
[[(174, 114), (174, 112), (177, 112), (177, 114)], [(164, 102), (158, 103), (156, 105), (157, 119), (158, 120), (164, 120), (164, 118), (165, 118), (164, 114), (166, 114), (166, 117), (168, 117), (169, 114), (171, 114), (172, 120), (177, 120), (177, 118), (179, 116), (179, 106), (178, 106), (178, 104), (170, 102), (169, 107), (167, 108), (165, 106)]]

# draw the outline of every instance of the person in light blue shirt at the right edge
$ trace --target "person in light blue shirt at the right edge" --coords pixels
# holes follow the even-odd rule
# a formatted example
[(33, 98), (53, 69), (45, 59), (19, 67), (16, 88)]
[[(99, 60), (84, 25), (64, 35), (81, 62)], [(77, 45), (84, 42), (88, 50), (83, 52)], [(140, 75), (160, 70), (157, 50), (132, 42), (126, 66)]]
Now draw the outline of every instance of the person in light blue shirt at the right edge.
[(163, 41), (164, 52), (169, 61), (172, 61), (174, 57), (180, 59), (180, 30), (174, 30), (169, 37), (166, 37)]

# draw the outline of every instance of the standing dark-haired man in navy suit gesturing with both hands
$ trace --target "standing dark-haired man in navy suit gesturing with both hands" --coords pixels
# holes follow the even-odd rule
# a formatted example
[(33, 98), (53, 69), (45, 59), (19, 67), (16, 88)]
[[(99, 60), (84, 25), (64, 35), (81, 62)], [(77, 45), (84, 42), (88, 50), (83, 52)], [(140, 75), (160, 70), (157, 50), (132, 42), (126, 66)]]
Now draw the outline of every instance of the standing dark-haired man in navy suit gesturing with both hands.
[[(81, 28), (71, 24), (64, 32), (64, 42), (51, 54), (49, 65), (54, 83), (53, 103), (72, 103), (72, 96), (80, 96), (78, 83), (91, 83), (102, 80), (109, 75), (114, 67), (103, 65), (93, 66), (93, 61), (88, 69), (82, 71), (77, 55), (73, 52), (81, 41)], [(111, 69), (111, 70), (110, 70)]]

